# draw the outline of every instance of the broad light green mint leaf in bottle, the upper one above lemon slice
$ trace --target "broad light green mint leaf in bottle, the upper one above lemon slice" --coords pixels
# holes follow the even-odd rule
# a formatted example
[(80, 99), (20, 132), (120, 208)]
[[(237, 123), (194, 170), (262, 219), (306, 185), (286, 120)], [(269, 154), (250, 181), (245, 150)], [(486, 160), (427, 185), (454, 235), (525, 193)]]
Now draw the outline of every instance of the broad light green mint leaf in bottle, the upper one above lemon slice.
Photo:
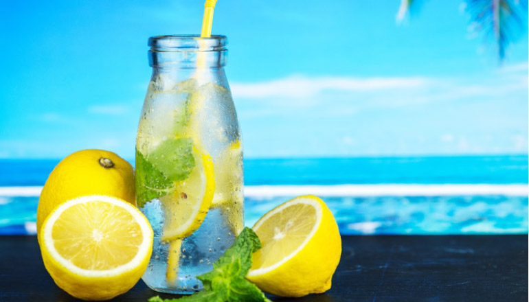
[(147, 155), (147, 159), (170, 181), (183, 181), (189, 177), (195, 165), (193, 140), (166, 139)]

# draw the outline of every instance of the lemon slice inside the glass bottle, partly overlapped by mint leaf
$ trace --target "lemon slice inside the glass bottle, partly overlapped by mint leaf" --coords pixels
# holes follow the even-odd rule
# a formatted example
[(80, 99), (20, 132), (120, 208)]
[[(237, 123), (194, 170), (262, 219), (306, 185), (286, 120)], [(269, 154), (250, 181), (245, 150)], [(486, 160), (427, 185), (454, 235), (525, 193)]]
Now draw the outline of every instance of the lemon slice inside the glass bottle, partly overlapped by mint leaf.
[(175, 190), (160, 198), (164, 207), (161, 240), (177, 240), (199, 229), (215, 191), (211, 156), (193, 148), (195, 166), (188, 178), (175, 182)]

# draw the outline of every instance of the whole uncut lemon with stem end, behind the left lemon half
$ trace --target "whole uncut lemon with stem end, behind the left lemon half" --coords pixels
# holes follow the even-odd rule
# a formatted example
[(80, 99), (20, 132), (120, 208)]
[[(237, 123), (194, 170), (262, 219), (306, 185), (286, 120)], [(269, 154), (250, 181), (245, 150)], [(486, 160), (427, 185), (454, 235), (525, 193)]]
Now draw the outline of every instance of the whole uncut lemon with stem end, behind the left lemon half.
[(135, 194), (134, 169), (130, 163), (110, 151), (75, 152), (60, 161), (48, 176), (38, 200), (37, 233), (49, 213), (67, 200), (106, 195), (136, 205)]

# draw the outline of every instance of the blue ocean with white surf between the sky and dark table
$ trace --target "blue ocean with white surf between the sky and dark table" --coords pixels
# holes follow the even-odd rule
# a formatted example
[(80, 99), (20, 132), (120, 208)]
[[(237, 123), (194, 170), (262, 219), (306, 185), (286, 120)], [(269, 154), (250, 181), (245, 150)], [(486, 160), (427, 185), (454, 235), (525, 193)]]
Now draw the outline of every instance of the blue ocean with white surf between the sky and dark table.
[[(0, 160), (0, 234), (35, 232), (58, 160)], [(343, 234), (528, 233), (528, 156), (245, 160), (245, 224), (301, 194)]]

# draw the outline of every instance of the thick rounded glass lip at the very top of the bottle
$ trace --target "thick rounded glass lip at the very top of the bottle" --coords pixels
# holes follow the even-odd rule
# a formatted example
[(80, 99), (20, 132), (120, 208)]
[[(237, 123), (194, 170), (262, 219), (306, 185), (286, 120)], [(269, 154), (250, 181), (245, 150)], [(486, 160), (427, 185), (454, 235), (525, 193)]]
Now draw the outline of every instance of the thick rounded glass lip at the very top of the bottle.
[(152, 36), (148, 39), (150, 52), (202, 52), (226, 50), (227, 37), (212, 35), (201, 37), (198, 34)]

